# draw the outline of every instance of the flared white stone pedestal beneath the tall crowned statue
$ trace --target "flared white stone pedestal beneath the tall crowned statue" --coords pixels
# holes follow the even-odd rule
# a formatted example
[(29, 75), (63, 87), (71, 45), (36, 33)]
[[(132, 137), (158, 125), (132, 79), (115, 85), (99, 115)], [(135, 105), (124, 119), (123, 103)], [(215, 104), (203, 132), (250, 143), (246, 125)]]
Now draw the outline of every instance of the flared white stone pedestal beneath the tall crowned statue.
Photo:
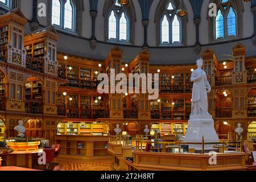
[[(214, 121), (212, 115), (196, 115), (191, 116), (188, 120), (188, 129), (184, 137), (184, 142), (202, 142), (204, 136), (205, 150), (213, 149), (213, 144), (207, 142), (218, 142), (218, 135), (214, 129)], [(189, 148), (202, 150), (200, 144), (189, 144)]]

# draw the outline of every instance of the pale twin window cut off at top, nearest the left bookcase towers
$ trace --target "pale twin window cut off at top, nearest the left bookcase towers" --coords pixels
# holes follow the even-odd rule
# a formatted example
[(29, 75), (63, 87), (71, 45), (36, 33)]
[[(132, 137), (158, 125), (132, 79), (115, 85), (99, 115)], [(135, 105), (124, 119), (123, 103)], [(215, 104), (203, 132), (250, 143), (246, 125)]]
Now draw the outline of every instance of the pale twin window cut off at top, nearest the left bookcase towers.
[(75, 31), (73, 0), (52, 0), (52, 24)]

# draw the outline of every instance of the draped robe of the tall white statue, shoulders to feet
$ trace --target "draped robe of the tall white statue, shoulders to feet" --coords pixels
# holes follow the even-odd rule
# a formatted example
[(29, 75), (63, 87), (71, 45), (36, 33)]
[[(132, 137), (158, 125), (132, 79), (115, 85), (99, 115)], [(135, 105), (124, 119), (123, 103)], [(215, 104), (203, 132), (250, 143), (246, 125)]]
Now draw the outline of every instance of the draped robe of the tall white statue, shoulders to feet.
[(206, 73), (202, 69), (196, 69), (192, 72), (191, 81), (193, 82), (191, 115), (209, 115), (206, 88), (210, 88), (210, 84)]

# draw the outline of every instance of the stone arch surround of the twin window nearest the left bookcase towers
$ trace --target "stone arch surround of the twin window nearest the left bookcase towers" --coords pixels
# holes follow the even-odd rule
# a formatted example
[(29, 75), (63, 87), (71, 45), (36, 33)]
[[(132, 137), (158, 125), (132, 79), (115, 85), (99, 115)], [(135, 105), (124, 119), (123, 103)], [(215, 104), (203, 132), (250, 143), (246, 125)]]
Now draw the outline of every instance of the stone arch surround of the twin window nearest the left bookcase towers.
[[(63, 3), (67, 2), (67, 0), (59, 0)], [(75, 6), (75, 32), (79, 35), (82, 34), (82, 12), (85, 10), (84, 1), (83, 0), (71, 0), (73, 5)], [(48, 16), (47, 16), (47, 24), (51, 26), (51, 17), (52, 17), (52, 0), (47, 0), (48, 3)], [(64, 30), (64, 29), (63, 29)]]

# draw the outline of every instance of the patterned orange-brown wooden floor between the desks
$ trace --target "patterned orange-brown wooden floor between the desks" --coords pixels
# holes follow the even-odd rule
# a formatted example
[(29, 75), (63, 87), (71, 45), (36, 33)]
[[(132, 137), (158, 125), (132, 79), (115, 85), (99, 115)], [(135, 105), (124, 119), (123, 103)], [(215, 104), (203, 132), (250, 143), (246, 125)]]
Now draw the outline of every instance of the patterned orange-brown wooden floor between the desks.
[(113, 171), (111, 160), (102, 159), (71, 159), (57, 157), (55, 163), (60, 164), (61, 171)]

